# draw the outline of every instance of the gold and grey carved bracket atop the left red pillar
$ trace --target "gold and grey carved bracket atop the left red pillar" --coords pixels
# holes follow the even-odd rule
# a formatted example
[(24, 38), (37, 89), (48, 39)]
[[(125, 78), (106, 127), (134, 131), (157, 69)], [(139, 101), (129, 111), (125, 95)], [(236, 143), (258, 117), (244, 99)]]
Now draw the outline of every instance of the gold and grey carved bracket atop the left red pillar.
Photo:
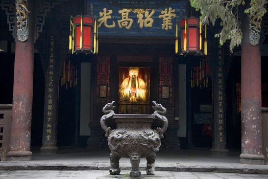
[(17, 38), (22, 42), (29, 36), (28, 14), (27, 1), (16, 0)]

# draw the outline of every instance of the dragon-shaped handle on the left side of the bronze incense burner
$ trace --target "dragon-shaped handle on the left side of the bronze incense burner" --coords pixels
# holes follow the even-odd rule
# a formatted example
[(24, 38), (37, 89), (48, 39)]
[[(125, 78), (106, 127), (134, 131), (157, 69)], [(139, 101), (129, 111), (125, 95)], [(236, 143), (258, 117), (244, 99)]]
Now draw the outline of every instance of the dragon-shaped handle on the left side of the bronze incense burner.
[(105, 121), (108, 120), (108, 119), (111, 119), (114, 115), (114, 109), (115, 109), (115, 106), (113, 106), (113, 103), (114, 101), (106, 104), (104, 107), (103, 107), (103, 113), (104, 115), (101, 117), (101, 126), (103, 128), (103, 130), (105, 131), (105, 137), (108, 137), (112, 128), (111, 127), (108, 127), (106, 124), (105, 124)]

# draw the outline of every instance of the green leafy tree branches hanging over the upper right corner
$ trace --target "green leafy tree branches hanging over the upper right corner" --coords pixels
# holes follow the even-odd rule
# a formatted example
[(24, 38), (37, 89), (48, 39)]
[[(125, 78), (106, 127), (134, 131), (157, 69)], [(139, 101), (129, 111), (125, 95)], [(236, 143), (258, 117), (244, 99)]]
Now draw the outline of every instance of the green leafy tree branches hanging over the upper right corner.
[[(242, 40), (240, 21), (238, 20), (238, 8), (244, 6), (244, 0), (190, 0), (191, 6), (200, 10), (203, 24), (212, 23), (215, 25), (216, 19), (221, 20), (222, 31), (215, 35), (220, 37), (220, 44), (230, 40), (230, 50), (239, 46)], [(267, 0), (251, 0), (250, 8), (245, 10), (250, 17), (249, 28), (260, 31), (261, 17), (266, 13), (265, 4)]]

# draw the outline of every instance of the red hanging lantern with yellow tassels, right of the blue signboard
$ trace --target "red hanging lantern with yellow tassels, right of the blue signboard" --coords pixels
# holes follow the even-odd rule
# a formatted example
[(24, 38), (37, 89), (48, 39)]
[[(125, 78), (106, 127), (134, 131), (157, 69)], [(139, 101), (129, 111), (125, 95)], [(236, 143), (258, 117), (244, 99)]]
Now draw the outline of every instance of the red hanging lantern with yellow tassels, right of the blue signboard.
[(202, 55), (202, 25), (200, 24), (200, 19), (197, 17), (182, 19), (180, 21), (180, 29), (182, 55)]

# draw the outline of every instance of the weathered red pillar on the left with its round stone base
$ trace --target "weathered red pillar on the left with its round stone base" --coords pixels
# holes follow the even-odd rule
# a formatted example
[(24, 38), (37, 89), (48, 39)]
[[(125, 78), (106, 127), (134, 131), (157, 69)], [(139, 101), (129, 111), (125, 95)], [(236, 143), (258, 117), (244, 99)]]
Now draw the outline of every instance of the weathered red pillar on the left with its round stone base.
[(34, 31), (33, 9), (28, 1), (29, 39), (21, 42), (17, 39), (14, 64), (13, 107), (9, 152), (9, 161), (31, 160), (31, 120), (33, 99), (33, 60)]

